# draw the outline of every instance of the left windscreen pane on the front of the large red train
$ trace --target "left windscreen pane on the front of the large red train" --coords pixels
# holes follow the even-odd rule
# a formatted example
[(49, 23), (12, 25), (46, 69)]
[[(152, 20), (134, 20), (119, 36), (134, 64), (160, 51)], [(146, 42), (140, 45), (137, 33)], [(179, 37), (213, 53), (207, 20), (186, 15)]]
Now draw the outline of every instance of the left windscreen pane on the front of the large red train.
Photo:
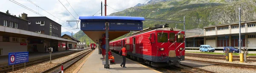
[(168, 33), (157, 33), (157, 42), (167, 42), (168, 41)]

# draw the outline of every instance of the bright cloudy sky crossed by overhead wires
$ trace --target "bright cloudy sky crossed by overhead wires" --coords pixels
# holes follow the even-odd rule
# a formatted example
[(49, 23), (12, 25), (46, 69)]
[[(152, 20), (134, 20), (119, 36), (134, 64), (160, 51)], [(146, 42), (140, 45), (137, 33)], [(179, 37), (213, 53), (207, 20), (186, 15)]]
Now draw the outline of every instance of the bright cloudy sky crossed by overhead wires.
[[(131, 8), (138, 3), (147, 3), (148, 1), (150, 0), (107, 0), (107, 15), (125, 10), (126, 8)], [(22, 4), (24, 7), (26, 6), (32, 11), (17, 5), (16, 2), (18, 4)], [(60, 2), (67, 9), (64, 8)], [(39, 13), (44, 17), (48, 17), (49, 19), (61, 24), (61, 32), (72, 31), (73, 33), (76, 33), (80, 31), (80, 22), (77, 25), (76, 22), (66, 21), (79, 20), (79, 16), (92, 16), (94, 14), (94, 16), (101, 16), (101, 2), (104, 6), (105, 0), (1, 0), (0, 11), (6, 12), (9, 10), (9, 13), (16, 16), (19, 14), (21, 16), (22, 13), (26, 13), (28, 14), (28, 17), (41, 17), (40, 15), (36, 14)], [(37, 6), (35, 6), (33, 3)], [(67, 10), (70, 11), (73, 16)], [(103, 8), (103, 16), (104, 14), (105, 13)]]

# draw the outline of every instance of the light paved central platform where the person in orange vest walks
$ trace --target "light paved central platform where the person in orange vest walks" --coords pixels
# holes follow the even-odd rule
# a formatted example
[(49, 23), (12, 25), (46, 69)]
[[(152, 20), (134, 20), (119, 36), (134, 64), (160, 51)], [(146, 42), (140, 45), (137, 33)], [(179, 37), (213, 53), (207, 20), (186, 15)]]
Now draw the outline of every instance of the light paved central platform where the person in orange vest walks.
[(116, 64), (110, 64), (109, 69), (102, 65), (102, 55), (98, 54), (99, 49), (95, 49), (73, 73), (161, 73), (144, 65), (126, 58), (126, 68), (121, 67), (122, 56), (112, 53)]

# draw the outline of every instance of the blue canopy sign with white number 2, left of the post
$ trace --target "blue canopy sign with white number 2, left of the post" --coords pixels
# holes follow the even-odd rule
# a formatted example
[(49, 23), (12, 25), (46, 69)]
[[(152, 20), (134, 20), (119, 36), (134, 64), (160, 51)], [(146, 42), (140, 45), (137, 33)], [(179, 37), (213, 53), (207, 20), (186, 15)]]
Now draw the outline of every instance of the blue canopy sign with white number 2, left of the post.
[(81, 21), (81, 30), (83, 31), (103, 31), (105, 30), (105, 21)]

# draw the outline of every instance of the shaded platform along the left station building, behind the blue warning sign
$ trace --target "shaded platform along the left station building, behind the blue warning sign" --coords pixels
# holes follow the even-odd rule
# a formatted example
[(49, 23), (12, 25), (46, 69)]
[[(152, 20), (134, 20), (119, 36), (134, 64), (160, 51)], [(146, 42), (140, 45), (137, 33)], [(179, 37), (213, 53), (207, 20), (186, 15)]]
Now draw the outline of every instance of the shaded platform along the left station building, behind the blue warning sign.
[[(57, 51), (57, 52), (52, 52), (52, 56), (57, 56), (61, 55), (64, 53), (70, 53), (74, 51), (79, 51), (79, 50), (67, 50), (67, 51)], [(35, 61), (38, 59), (42, 58), (48, 58), (49, 52), (29, 52), (29, 61)], [(8, 55), (6, 56), (0, 56), (0, 65), (7, 64), (8, 65)]]

